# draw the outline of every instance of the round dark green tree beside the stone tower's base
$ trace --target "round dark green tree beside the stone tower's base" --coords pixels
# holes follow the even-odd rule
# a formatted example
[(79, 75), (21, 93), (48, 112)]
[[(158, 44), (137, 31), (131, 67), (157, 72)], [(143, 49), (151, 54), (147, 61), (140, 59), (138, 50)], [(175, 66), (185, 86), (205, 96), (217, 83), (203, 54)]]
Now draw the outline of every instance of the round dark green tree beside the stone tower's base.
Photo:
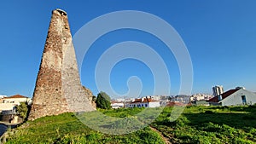
[(109, 109), (111, 108), (110, 104), (110, 97), (108, 96), (108, 94), (101, 91), (96, 98), (96, 107), (102, 109)]

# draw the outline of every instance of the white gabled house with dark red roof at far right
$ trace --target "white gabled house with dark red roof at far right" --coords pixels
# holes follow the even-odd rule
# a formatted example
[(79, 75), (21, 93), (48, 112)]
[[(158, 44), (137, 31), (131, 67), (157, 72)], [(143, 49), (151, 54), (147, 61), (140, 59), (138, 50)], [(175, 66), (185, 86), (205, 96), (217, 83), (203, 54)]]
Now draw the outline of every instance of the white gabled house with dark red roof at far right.
[(213, 97), (209, 103), (219, 106), (253, 105), (256, 103), (256, 94), (242, 87), (237, 87)]

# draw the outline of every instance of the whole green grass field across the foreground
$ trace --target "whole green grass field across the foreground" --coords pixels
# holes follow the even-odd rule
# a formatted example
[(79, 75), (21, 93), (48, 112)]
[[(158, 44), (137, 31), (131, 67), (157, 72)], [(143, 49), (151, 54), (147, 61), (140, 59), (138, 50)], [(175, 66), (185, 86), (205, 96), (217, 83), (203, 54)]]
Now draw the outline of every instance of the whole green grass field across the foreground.
[[(90, 119), (85, 120), (106, 126), (103, 124), (105, 117), (91, 118), (94, 115), (91, 112), (78, 117), (74, 113), (64, 113), (38, 118), (15, 130), (9, 130), (6, 143), (165, 143), (163, 136), (172, 143), (256, 142), (256, 106), (186, 107), (182, 115), (171, 122), (172, 109), (173, 107), (166, 107), (149, 126), (142, 130), (137, 127), (137, 131), (123, 135), (103, 134), (81, 123), (83, 115), (90, 115)], [(148, 112), (153, 110), (148, 109)], [(119, 128), (127, 125), (130, 128), (138, 123), (146, 123), (148, 117), (140, 115), (142, 111), (145, 108), (98, 110), (113, 120), (105, 127), (109, 130), (118, 130), (119, 125)], [(119, 120), (115, 121), (114, 118), (131, 119), (127, 124), (117, 124)], [(160, 133), (149, 127), (154, 127)]]

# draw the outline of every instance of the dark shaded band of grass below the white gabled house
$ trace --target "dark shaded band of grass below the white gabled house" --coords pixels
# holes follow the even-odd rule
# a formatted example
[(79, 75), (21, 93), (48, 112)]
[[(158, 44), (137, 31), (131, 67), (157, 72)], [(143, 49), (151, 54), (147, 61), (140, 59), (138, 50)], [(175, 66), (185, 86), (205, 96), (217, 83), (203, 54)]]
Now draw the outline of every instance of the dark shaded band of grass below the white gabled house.
[[(168, 108), (167, 108), (168, 109)], [(192, 112), (193, 111), (193, 112)], [(170, 113), (162, 112), (154, 121), (156, 125), (175, 127), (180, 123), (201, 127), (204, 123), (226, 124), (243, 129), (256, 128), (256, 107), (188, 107), (180, 118), (170, 122)]]

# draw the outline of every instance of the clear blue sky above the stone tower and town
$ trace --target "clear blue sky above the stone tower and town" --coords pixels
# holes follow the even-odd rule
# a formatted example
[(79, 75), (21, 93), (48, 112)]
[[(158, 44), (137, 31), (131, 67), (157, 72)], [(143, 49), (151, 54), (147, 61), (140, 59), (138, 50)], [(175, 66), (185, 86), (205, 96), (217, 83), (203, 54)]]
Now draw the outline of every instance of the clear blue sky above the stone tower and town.
[[(256, 91), (254, 0), (4, 0), (0, 2), (0, 94), (32, 97), (51, 10), (56, 8), (67, 11), (72, 34), (97, 16), (117, 10), (139, 10), (157, 15), (177, 30), (189, 50), (194, 68), (192, 93), (211, 94), (215, 84), (224, 85), (224, 90), (244, 86)], [(99, 55), (122, 41), (138, 41), (153, 47), (170, 72), (171, 94), (177, 94), (179, 71), (172, 52), (159, 39), (145, 32), (122, 30), (99, 38), (84, 59), (82, 83), (94, 95), (98, 92), (94, 68)], [(148, 67), (137, 60), (124, 60), (113, 68), (113, 88), (125, 93), (127, 78), (133, 75), (143, 82), (142, 95), (150, 95), (154, 78)]]

